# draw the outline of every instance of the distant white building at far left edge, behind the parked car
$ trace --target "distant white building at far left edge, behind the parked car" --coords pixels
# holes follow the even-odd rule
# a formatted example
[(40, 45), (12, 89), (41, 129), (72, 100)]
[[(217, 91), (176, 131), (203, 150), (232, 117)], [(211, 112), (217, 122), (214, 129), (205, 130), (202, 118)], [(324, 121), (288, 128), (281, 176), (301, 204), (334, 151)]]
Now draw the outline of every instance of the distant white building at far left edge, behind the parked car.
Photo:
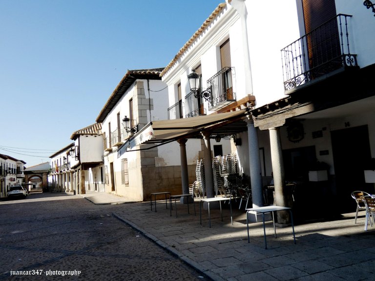
[(7, 196), (9, 187), (24, 183), (25, 161), (0, 154), (0, 198)]

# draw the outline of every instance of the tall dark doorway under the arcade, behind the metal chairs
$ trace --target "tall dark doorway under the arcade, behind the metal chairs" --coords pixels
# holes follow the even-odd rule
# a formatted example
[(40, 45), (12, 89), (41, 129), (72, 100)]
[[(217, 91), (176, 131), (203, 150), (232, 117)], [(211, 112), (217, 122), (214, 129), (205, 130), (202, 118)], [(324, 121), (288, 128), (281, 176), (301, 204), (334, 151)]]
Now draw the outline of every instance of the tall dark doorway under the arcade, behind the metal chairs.
[(374, 184), (366, 184), (364, 170), (371, 160), (367, 125), (331, 132), (337, 206), (341, 213), (354, 212), (355, 190), (374, 193)]

